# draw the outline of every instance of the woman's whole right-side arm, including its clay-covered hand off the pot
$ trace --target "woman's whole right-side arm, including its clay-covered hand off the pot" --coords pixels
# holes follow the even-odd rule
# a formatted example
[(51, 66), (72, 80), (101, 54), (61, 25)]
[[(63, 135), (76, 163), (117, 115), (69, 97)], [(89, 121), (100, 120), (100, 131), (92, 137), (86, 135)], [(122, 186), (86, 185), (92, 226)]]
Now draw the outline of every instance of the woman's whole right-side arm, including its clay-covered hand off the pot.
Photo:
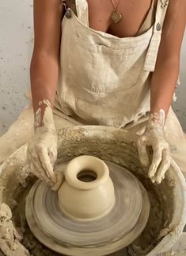
[(149, 165), (147, 146), (153, 149), (149, 177), (161, 183), (171, 163), (169, 144), (165, 141), (165, 117), (173, 99), (180, 68), (180, 48), (186, 23), (186, 1), (169, 0), (165, 16), (161, 44), (158, 50), (156, 67), (150, 84), (150, 118), (146, 131), (137, 145), (142, 165)]

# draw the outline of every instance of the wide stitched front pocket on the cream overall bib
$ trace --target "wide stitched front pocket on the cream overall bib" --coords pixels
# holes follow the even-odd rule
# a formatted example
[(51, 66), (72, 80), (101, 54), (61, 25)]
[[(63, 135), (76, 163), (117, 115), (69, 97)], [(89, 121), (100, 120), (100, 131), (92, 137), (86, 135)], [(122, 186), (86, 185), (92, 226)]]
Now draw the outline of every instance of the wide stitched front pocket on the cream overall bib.
[(142, 72), (142, 56), (132, 48), (91, 44), (75, 34), (70, 41), (67, 76), (74, 86), (94, 93), (125, 91), (134, 87)]

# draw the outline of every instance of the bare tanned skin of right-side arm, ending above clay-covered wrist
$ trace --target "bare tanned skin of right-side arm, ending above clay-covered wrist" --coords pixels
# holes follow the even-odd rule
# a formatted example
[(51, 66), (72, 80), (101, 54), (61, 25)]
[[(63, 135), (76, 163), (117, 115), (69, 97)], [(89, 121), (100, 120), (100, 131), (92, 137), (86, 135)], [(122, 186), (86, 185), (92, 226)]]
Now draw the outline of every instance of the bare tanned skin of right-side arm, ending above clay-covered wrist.
[(180, 69), (180, 48), (186, 24), (186, 1), (169, 0), (161, 44), (150, 86), (150, 111), (169, 111)]

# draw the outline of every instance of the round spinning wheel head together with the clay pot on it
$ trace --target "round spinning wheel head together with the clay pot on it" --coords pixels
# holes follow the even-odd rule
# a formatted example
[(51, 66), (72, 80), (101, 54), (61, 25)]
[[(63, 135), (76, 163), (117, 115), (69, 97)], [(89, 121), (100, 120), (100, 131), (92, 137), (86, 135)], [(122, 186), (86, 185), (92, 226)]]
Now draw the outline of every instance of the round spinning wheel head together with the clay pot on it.
[(37, 180), (26, 201), (28, 225), (45, 246), (61, 254), (99, 256), (142, 233), (150, 203), (127, 169), (90, 156), (76, 157), (60, 169), (65, 178), (59, 192)]

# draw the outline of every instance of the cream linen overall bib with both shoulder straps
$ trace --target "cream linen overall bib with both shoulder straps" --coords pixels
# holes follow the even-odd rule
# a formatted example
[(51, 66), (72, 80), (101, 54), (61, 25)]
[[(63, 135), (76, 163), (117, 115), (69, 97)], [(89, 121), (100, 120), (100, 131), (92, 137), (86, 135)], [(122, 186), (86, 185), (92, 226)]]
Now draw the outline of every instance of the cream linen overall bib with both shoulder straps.
[[(165, 4), (163, 4), (165, 2)], [(169, 1), (158, 0), (155, 23), (140, 36), (89, 28), (88, 4), (63, 17), (57, 95), (61, 111), (91, 125), (123, 128), (150, 111), (154, 71)]]

